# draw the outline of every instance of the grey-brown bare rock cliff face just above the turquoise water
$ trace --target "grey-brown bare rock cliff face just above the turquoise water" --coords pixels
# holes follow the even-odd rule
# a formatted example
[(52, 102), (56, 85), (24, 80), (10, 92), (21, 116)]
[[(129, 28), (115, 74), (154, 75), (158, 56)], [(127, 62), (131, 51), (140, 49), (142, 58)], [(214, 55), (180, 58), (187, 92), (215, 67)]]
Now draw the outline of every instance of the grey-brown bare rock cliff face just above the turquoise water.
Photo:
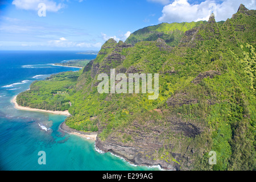
[[(136, 136), (132, 138), (133, 142), (124, 143), (121, 141), (121, 138), (118, 137), (118, 134), (113, 133), (106, 138), (105, 141), (97, 138), (96, 147), (104, 152), (112, 152), (115, 155), (122, 156), (133, 164), (146, 166), (160, 165), (165, 169), (179, 170), (179, 164), (174, 161), (155, 160), (153, 158), (147, 158), (147, 155), (155, 154), (155, 151), (158, 151), (159, 148), (163, 146), (164, 139), (159, 137), (162, 134), (180, 134), (185, 137), (195, 138), (201, 131), (200, 128), (193, 123), (183, 121), (175, 116), (167, 118), (165, 122), (165, 125), (148, 126), (147, 123), (142, 125), (134, 121), (131, 127), (125, 131), (127, 135)], [(148, 121), (148, 123), (154, 123), (154, 121)], [(99, 132), (101, 132), (101, 130), (100, 128)], [(150, 130), (150, 132), (147, 132), (148, 130)], [(121, 131), (119, 133), (121, 133)], [(175, 142), (178, 141), (174, 141), (174, 143), (171, 142), (168, 147), (173, 148)], [(175, 160), (181, 160), (181, 153), (171, 152), (171, 155)]]

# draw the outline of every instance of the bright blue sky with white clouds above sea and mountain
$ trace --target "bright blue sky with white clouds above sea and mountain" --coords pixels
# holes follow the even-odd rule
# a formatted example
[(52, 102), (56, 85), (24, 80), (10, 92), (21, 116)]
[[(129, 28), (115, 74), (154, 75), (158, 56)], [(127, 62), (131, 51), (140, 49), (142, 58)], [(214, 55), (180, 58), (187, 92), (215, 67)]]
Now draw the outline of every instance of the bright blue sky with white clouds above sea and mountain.
[[(0, 50), (99, 51), (140, 28), (231, 18), (256, 0), (0, 0)], [(45, 9), (44, 9), (45, 8)]]

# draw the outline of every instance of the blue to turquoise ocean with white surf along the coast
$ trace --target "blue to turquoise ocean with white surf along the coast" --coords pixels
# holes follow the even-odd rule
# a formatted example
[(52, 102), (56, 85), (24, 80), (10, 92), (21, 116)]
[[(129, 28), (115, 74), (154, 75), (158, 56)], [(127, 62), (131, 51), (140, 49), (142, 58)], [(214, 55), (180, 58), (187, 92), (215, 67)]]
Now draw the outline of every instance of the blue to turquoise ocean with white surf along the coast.
[[(53, 63), (95, 57), (76, 51), (0, 51), (1, 170), (158, 170), (132, 166), (109, 152), (100, 154), (93, 141), (61, 133), (58, 129), (64, 115), (16, 110), (11, 103), (35, 80), (79, 70)], [(38, 163), (39, 151), (46, 152), (45, 165)]]

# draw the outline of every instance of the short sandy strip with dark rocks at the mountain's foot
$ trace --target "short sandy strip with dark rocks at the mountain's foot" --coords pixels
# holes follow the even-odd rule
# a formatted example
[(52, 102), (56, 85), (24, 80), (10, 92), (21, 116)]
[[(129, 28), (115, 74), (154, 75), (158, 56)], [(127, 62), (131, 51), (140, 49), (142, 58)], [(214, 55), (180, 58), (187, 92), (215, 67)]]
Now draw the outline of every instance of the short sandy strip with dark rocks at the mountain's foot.
[(71, 129), (70, 127), (68, 127), (65, 124), (65, 122), (61, 123), (61, 125), (59, 126), (59, 130), (64, 131), (68, 134), (77, 135), (79, 137), (86, 138), (88, 140), (96, 141), (96, 138), (97, 138), (97, 132), (85, 133), (84, 131), (77, 131), (75, 129)]

